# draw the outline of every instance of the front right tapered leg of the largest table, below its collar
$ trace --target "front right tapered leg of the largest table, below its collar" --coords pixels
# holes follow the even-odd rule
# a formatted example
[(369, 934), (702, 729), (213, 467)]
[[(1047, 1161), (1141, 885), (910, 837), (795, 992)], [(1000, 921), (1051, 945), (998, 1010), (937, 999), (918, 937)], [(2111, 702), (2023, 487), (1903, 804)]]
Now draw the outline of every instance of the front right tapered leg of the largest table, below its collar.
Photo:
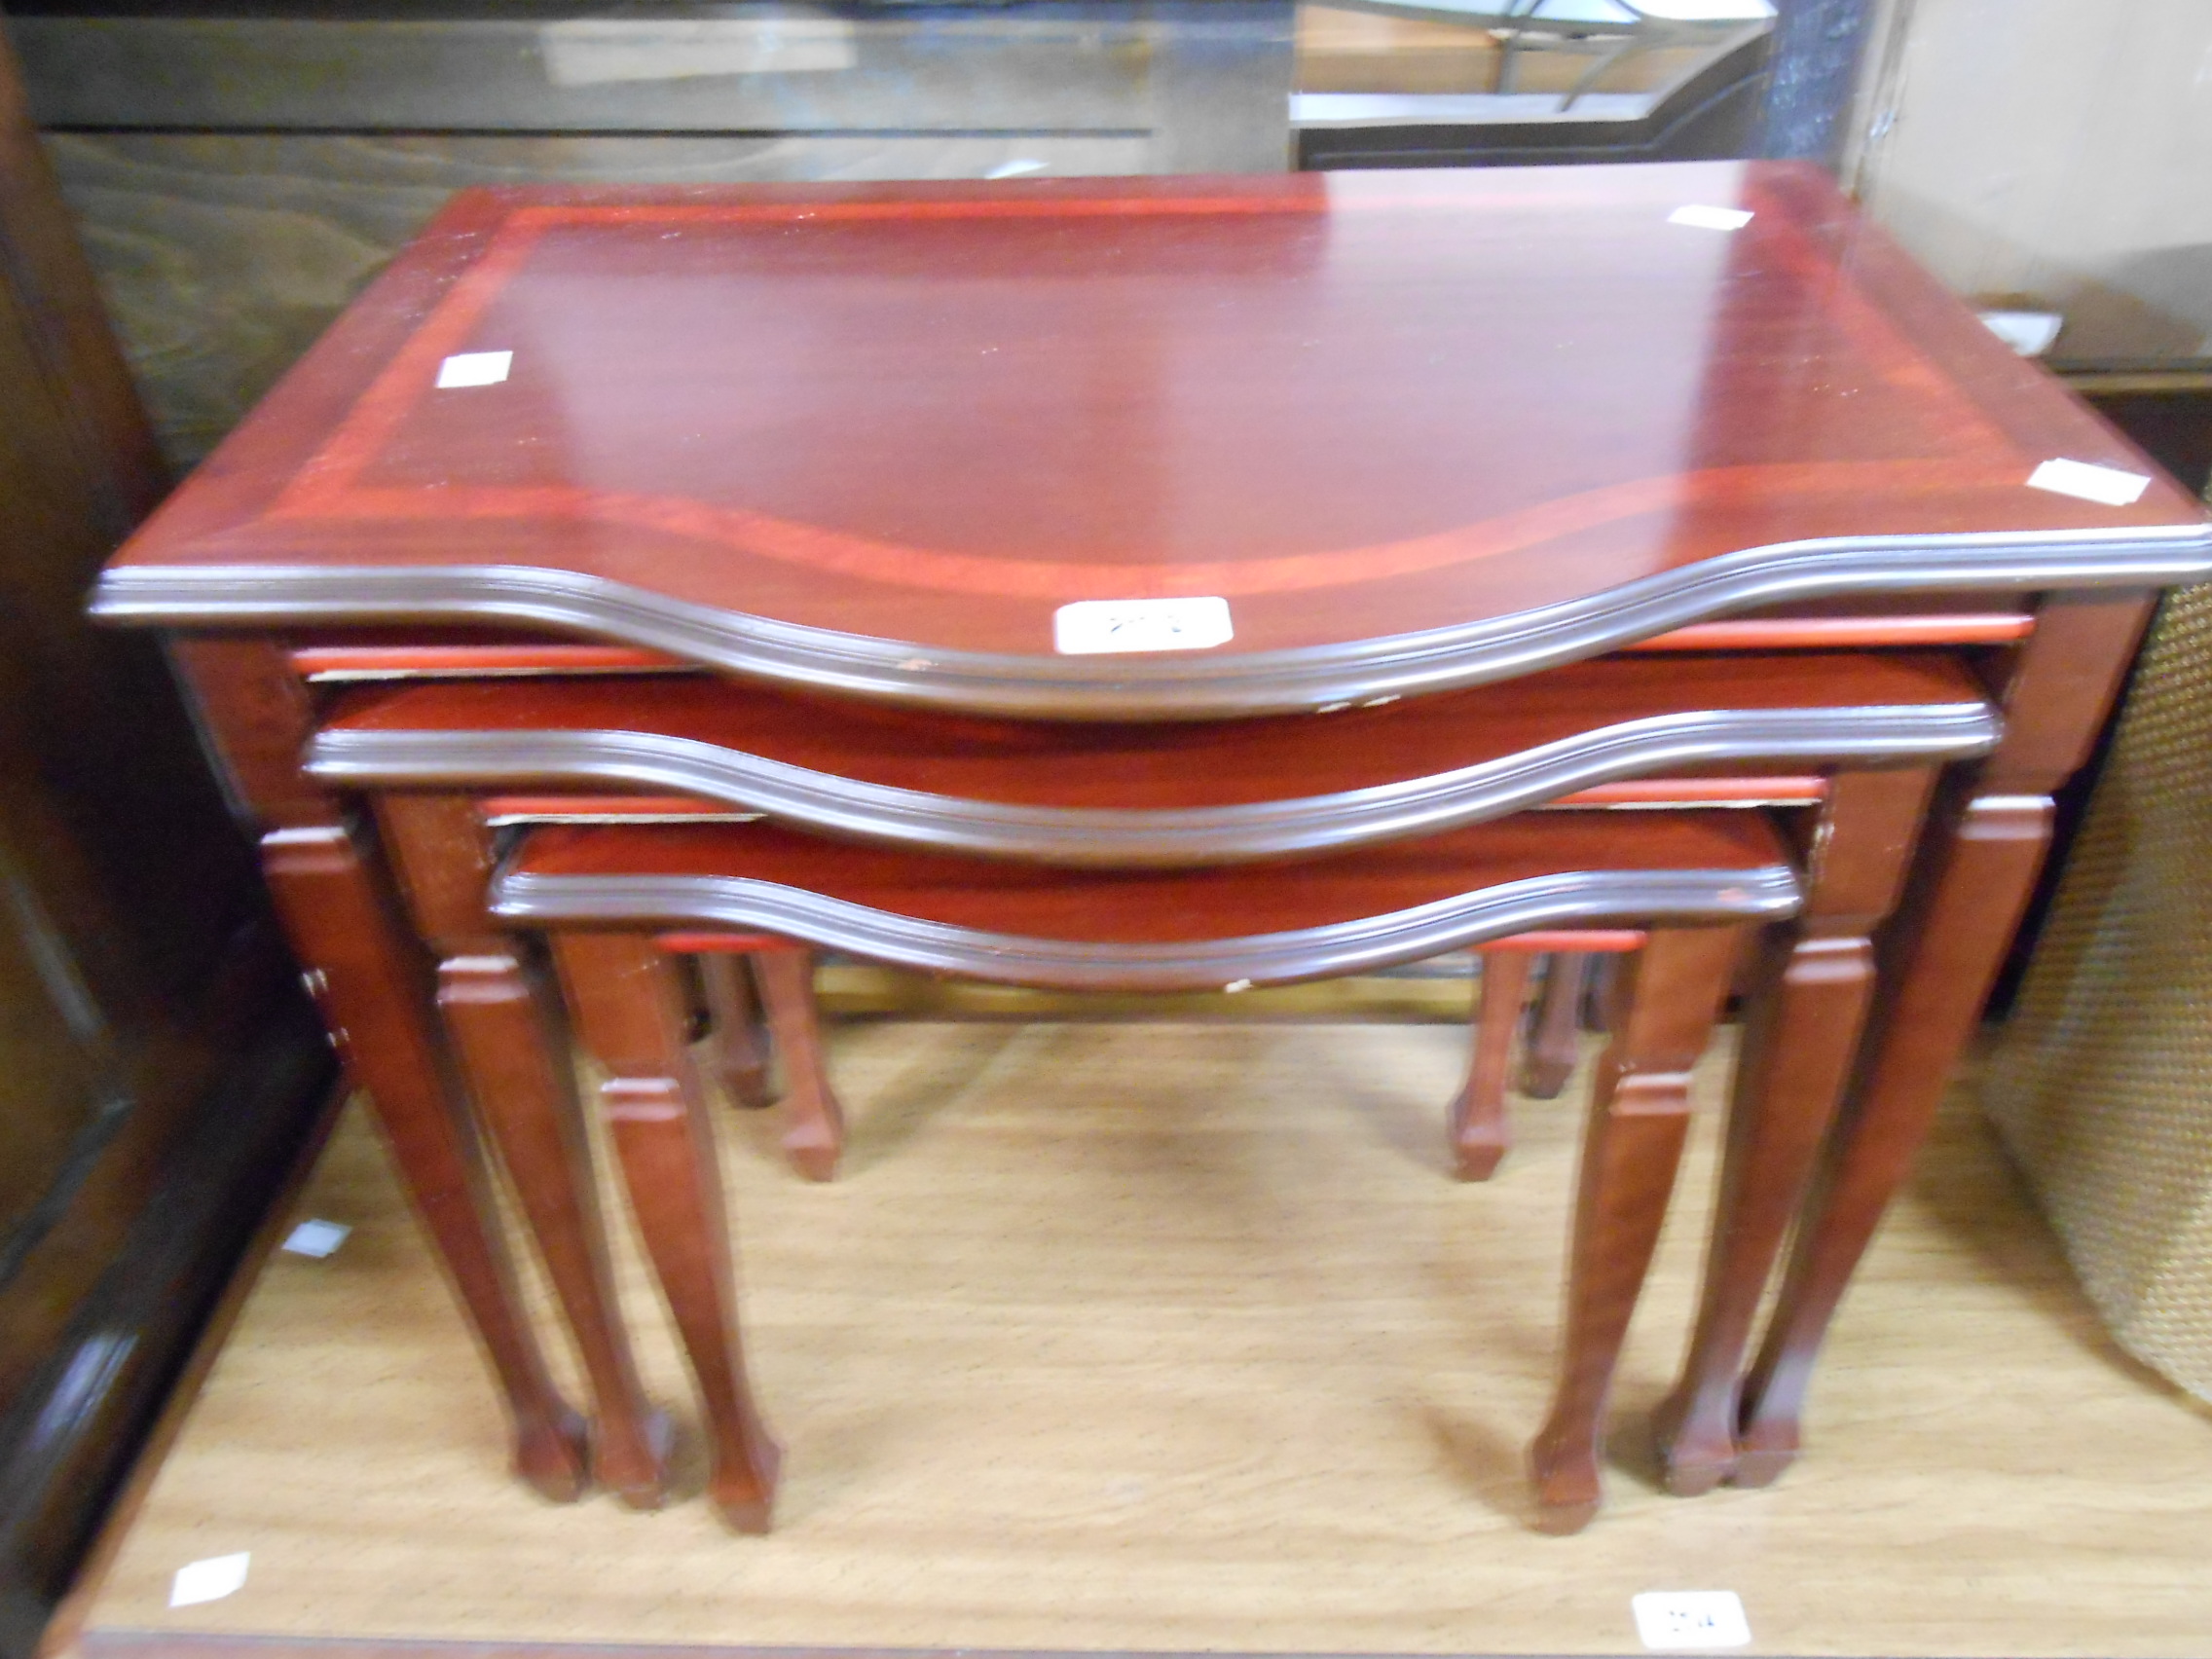
[(1885, 973), (1869, 1062), (1743, 1385), (1739, 1486), (1765, 1486), (1796, 1460), (1814, 1356), (1936, 1119), (2048, 847), (2051, 799), (2039, 794), (1975, 796), (1929, 830), (1924, 885), (1900, 918), (1902, 951)]

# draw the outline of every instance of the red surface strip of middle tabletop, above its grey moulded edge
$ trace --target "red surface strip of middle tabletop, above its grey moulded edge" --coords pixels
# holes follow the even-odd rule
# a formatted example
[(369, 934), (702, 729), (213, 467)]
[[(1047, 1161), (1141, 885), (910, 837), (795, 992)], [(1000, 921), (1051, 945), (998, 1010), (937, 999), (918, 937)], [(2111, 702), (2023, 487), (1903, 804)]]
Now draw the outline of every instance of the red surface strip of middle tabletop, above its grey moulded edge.
[[(389, 752), (396, 748), (392, 734), (407, 732), (438, 734), (447, 743), (453, 734), (482, 732), (489, 739), (482, 750), (526, 732), (637, 732), (960, 801), (1172, 812), (1387, 787), (1573, 743), (1590, 732), (1714, 710), (1958, 710), (1964, 726), (1971, 723), (1966, 710), (1980, 710), (1986, 699), (1986, 686), (1955, 655), (1940, 653), (1610, 657), (1509, 686), (1347, 708), (1318, 719), (1084, 726), (883, 708), (708, 677), (403, 684), (336, 697), (310, 763), (332, 781), (365, 774), (385, 785), (434, 783), (429, 768), (407, 776), (385, 761), (372, 772), (367, 761), (349, 768), (347, 757), (365, 754), (361, 739), (372, 737), (385, 739)], [(1730, 748), (1759, 761), (1776, 754), (1756, 737)], [(491, 774), (500, 759), (484, 752), (478, 776)], [(1703, 748), (1679, 743), (1663, 754), (1670, 779), (1686, 763), (1710, 759), (1717, 759), (1710, 741)], [(1774, 765), (1734, 770), (1745, 776), (1781, 772)], [(546, 781), (557, 776), (546, 774)], [(1723, 799), (1739, 799), (1743, 781), (1712, 783)], [(1681, 787), (1670, 781), (1657, 799), (1679, 801)], [(1801, 792), (1803, 785), (1792, 774), (1783, 787)]]

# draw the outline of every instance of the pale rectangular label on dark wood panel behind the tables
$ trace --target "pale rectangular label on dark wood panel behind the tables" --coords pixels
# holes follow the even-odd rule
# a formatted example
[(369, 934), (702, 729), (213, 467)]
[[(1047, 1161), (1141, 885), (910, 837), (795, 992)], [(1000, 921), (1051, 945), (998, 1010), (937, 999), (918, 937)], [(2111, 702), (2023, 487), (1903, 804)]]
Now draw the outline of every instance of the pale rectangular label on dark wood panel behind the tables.
[(564, 18), (538, 31), (546, 80), (606, 86), (701, 75), (818, 75), (860, 62), (843, 18)]

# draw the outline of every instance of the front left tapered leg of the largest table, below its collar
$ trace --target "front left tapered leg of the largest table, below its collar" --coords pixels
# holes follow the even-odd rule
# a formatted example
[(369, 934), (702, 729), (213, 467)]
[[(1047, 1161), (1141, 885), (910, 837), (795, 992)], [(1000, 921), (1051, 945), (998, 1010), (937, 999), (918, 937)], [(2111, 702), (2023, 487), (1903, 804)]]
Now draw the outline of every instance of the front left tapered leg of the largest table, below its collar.
[(367, 1091), (422, 1225), (484, 1343), (515, 1427), (515, 1473), (555, 1502), (586, 1486), (584, 1418), (562, 1400), (522, 1312), (491, 1186), (429, 1024), (420, 960), (341, 825), (261, 838), (261, 869), (332, 1037)]

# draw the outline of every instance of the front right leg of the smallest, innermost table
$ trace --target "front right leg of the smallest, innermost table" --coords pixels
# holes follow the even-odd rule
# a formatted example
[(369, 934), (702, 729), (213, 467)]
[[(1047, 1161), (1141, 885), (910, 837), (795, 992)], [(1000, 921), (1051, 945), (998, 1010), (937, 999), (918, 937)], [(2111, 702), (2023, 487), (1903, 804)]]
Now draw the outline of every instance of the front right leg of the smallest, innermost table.
[(1712, 1037), (1741, 945), (1736, 927), (1652, 929), (1615, 980), (1613, 1040), (1582, 1141), (1559, 1383), (1528, 1449), (1546, 1533), (1579, 1531), (1597, 1513), (1606, 1394), (1674, 1192), (1690, 1068)]

